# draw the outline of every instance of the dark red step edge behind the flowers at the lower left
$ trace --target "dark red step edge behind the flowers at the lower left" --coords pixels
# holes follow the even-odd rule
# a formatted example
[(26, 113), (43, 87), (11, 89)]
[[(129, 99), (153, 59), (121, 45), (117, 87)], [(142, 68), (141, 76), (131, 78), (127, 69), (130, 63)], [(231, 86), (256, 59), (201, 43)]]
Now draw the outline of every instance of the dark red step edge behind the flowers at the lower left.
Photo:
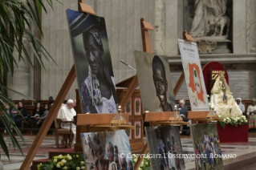
[(71, 155), (73, 153), (75, 153), (74, 148), (58, 149), (55, 151), (51, 151), (51, 152), (49, 152), (49, 159), (33, 160), (32, 165), (30, 166), (30, 170), (38, 170), (38, 168), (37, 168), (38, 164), (48, 163), (49, 160), (51, 160), (54, 156), (67, 155), (67, 154)]

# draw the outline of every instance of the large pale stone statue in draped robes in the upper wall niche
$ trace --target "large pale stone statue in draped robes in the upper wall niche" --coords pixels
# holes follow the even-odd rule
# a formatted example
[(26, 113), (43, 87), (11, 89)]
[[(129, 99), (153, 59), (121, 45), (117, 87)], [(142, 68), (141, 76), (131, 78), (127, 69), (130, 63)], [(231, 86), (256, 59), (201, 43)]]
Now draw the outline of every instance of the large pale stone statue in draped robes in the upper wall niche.
[(189, 34), (193, 37), (203, 37), (209, 36), (213, 32), (213, 36), (215, 36), (218, 30), (217, 28), (221, 26), (221, 31), (218, 31), (219, 35), (221, 35), (224, 26), (227, 23), (229, 24), (229, 18), (225, 16), (227, 0), (194, 1), (195, 14)]

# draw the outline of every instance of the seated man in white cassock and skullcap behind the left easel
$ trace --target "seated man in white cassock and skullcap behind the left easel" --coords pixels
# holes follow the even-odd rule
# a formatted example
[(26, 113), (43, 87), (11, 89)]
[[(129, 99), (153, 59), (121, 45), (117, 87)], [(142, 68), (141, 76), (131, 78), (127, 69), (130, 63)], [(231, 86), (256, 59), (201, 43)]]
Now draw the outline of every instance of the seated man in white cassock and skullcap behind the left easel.
[[(74, 107), (75, 107), (74, 100), (68, 99), (67, 104), (65, 104), (63, 107), (61, 107), (59, 109), (57, 119), (62, 119), (62, 120), (66, 120), (66, 121), (73, 121), (74, 120), (73, 117), (76, 115)], [(61, 123), (61, 127), (66, 128), (66, 129), (70, 129), (70, 123)], [(76, 127), (75, 127), (74, 123), (72, 123), (71, 130), (74, 134), (73, 142), (72, 142), (72, 147), (74, 147), (75, 132), (76, 132)]]

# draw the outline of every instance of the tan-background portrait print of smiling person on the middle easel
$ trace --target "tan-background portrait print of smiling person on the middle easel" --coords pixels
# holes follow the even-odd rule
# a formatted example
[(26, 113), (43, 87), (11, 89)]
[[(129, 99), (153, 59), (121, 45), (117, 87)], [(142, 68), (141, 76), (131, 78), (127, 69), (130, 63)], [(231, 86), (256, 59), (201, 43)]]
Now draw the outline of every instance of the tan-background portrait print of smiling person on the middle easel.
[(134, 51), (144, 111), (174, 111), (173, 83), (166, 56)]

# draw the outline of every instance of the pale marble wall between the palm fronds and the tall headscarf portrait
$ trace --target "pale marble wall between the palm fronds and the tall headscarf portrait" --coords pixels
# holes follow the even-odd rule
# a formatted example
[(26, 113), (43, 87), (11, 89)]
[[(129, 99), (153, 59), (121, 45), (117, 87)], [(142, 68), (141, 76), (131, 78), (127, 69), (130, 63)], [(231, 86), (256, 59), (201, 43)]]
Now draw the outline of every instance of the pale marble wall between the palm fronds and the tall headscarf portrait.
[[(53, 61), (49, 63), (43, 59), (45, 70), (42, 69), (41, 73), (41, 99), (49, 99), (49, 96), (56, 98), (74, 64), (66, 9), (77, 10), (76, 2), (63, 0), (61, 1), (63, 5), (61, 5), (59, 2), (53, 1), (55, 10), (53, 11), (50, 6), (47, 6), (47, 14), (42, 14), (43, 46), (46, 47), (57, 65)], [(75, 97), (75, 88), (77, 88), (76, 79), (66, 99)]]

